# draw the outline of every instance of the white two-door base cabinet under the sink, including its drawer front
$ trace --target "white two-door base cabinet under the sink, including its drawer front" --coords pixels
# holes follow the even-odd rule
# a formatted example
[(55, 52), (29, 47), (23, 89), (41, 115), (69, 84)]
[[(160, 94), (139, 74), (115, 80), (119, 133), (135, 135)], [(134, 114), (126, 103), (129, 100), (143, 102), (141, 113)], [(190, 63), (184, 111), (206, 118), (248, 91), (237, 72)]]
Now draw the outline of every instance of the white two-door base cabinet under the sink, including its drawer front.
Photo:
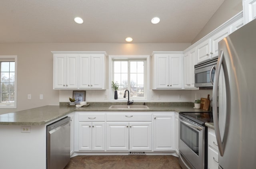
[(106, 150), (152, 150), (151, 114), (107, 114)]

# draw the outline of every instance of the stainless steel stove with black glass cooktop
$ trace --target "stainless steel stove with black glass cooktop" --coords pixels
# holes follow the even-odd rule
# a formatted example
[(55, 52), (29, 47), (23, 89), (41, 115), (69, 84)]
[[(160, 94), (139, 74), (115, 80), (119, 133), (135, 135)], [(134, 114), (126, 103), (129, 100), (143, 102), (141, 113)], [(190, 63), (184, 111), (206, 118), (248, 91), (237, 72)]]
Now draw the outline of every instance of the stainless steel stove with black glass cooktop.
[(207, 127), (212, 112), (179, 113), (179, 163), (183, 169), (207, 168)]

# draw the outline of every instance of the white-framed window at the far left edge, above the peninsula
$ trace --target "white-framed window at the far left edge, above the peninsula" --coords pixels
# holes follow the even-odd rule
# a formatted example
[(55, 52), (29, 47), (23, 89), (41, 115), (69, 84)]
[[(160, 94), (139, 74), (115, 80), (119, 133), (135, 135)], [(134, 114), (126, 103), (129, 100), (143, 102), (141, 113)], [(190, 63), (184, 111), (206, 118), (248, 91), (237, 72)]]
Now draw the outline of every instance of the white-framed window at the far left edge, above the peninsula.
[(16, 57), (0, 56), (0, 108), (16, 108)]

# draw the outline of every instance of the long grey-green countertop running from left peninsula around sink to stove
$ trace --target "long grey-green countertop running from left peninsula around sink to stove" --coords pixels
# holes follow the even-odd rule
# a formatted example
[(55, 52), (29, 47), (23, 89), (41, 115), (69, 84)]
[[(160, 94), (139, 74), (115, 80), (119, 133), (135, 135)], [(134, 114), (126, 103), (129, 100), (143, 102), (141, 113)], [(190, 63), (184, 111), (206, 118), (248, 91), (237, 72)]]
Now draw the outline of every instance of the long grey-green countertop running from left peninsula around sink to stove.
[(60, 106), (42, 106), (18, 112), (12, 112), (0, 115), (0, 125), (44, 125), (53, 120), (66, 116), (74, 111), (107, 111), (107, 112), (145, 112), (145, 111), (176, 111), (176, 112), (205, 112), (202, 109), (194, 109), (191, 105), (148, 105), (149, 109), (145, 110), (118, 110), (108, 109), (109, 104), (106, 105), (89, 105), (80, 108), (70, 107), (67, 105)]

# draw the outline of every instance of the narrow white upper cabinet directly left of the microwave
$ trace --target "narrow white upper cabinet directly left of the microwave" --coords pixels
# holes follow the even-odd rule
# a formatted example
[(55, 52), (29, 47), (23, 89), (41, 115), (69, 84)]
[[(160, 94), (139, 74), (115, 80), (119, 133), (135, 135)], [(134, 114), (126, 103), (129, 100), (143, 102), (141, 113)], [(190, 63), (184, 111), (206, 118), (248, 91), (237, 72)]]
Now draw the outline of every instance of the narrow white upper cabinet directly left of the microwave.
[(196, 54), (196, 47), (184, 53), (184, 88), (196, 88), (194, 76)]

